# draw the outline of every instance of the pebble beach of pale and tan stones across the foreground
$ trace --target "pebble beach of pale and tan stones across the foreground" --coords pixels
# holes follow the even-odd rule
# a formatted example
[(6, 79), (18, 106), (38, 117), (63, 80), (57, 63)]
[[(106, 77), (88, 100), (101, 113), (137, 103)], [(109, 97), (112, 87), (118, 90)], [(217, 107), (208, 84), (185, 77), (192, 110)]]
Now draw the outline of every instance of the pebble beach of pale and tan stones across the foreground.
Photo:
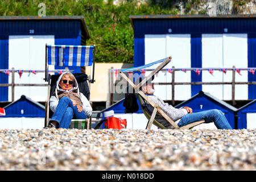
[(255, 170), (256, 130), (0, 130), (0, 170)]

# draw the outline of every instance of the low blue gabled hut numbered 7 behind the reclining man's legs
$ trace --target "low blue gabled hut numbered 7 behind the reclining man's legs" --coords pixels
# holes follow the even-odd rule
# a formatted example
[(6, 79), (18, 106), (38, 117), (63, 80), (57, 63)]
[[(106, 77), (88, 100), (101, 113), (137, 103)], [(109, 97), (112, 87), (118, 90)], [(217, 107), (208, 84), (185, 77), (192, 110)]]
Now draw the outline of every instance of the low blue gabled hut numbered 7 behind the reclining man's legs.
[[(237, 111), (237, 108), (229, 105), (224, 101), (219, 100), (218, 98), (212, 96), (209, 93), (200, 91), (199, 93), (195, 94), (195, 96), (189, 98), (189, 100), (181, 102), (175, 107), (180, 108), (182, 106), (191, 107), (194, 113), (209, 109), (219, 109), (225, 114), (225, 117), (226, 119), (228, 119), (230, 126), (232, 126), (233, 129), (236, 129), (235, 113)], [(216, 129), (213, 123), (204, 123), (195, 127), (195, 129), (197, 128)]]

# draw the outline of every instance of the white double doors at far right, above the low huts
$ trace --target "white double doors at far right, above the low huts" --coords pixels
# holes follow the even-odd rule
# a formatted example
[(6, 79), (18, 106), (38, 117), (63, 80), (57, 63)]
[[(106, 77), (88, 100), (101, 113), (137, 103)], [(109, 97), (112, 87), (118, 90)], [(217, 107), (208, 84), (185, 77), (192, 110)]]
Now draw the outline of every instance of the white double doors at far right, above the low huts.
[[(202, 67), (203, 68), (247, 68), (247, 34), (203, 34), (202, 35)], [(247, 81), (247, 71), (236, 73), (236, 81)], [(202, 73), (203, 82), (232, 81), (232, 71), (226, 74), (214, 71)], [(232, 85), (203, 85), (208, 92), (220, 100), (232, 99)], [(236, 100), (247, 100), (248, 86), (236, 85)]]

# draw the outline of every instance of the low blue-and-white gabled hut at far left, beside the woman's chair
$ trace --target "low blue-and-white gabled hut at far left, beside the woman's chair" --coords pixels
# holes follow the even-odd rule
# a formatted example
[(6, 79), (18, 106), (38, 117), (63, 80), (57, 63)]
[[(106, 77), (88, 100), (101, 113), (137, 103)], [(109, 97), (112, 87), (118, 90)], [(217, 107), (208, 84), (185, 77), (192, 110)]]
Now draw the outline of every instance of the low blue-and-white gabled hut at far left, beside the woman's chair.
[(0, 129), (42, 129), (44, 106), (21, 96), (4, 107), (6, 115), (0, 117)]

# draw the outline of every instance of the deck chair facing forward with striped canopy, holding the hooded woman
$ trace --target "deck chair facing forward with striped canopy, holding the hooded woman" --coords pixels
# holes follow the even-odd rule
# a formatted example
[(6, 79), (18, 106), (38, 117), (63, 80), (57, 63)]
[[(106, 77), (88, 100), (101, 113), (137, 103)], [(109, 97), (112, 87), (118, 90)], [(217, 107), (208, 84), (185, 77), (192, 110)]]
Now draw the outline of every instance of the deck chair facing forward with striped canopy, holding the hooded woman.
[[(48, 95), (45, 109), (45, 121), (44, 125), (47, 126), (49, 118), (52, 117), (53, 113), (49, 109), (49, 98), (53, 95), (56, 88), (56, 82), (60, 75), (50, 75), (48, 73), (48, 65), (55, 66), (76, 66), (85, 67), (93, 65), (92, 80), (89, 80), (88, 75), (84, 73), (74, 73), (77, 83), (79, 85), (79, 90), (84, 94), (84, 96), (90, 99), (90, 89), (89, 83), (93, 83), (94, 80), (94, 64), (95, 64), (95, 52), (96, 48), (94, 46), (60, 46), (54, 45), (49, 46), (46, 44), (46, 71), (45, 71), (45, 81), (48, 81)], [(88, 119), (72, 119), (69, 128), (76, 129), (91, 129), (92, 117)]]

